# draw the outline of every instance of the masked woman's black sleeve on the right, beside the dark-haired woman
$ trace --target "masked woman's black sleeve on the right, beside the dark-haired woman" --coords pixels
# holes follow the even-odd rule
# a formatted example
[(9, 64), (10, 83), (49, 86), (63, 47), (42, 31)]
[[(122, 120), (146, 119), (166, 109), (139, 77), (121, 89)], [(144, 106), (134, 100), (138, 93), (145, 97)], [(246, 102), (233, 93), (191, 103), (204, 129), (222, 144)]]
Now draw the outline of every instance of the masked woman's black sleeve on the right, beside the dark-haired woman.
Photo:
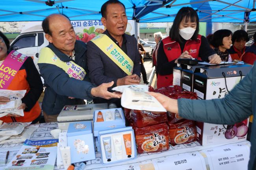
[(213, 54), (216, 54), (216, 52), (210, 47), (206, 37), (202, 36), (201, 45), (199, 48), (199, 57), (202, 59), (202, 61), (209, 62), (208, 57)]

